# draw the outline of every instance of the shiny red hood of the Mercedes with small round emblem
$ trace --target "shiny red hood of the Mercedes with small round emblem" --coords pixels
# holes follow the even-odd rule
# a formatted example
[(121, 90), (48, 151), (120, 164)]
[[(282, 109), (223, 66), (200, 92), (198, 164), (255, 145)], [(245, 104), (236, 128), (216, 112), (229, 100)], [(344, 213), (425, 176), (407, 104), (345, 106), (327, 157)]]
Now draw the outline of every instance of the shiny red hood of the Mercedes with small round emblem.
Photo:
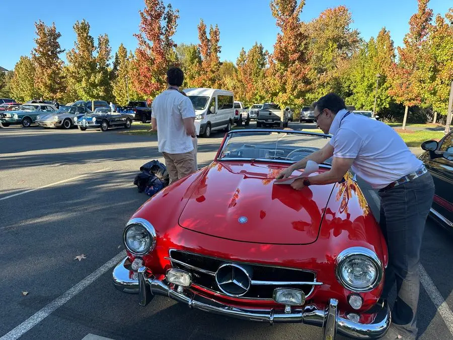
[(316, 241), (333, 184), (297, 191), (286, 184), (274, 184), (281, 169), (265, 163), (211, 164), (193, 183), (180, 226), (242, 242)]

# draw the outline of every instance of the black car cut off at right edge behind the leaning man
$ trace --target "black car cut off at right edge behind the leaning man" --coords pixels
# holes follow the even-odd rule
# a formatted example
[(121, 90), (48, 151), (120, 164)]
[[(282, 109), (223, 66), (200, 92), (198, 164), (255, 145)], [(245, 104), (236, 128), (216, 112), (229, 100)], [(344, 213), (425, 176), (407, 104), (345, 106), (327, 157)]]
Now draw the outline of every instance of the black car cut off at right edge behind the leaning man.
[(435, 185), (431, 216), (453, 231), (453, 131), (440, 142), (423, 142), (419, 158), (432, 175)]

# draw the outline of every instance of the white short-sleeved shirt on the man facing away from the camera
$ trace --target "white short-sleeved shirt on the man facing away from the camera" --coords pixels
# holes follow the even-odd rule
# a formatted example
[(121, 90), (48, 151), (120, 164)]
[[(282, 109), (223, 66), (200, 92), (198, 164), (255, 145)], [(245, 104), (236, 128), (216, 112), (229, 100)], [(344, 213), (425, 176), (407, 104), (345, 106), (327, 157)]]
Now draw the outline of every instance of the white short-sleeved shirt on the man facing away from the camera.
[(159, 152), (183, 154), (193, 150), (192, 137), (187, 135), (184, 118), (195, 117), (190, 99), (178, 90), (165, 90), (151, 105), (151, 117), (158, 125)]

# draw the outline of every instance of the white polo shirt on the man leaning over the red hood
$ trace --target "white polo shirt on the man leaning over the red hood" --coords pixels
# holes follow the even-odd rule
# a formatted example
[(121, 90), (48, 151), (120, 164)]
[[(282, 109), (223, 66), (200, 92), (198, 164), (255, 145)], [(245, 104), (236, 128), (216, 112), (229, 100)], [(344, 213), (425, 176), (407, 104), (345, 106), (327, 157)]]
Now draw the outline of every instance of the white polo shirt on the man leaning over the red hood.
[(354, 158), (352, 170), (373, 188), (386, 187), (423, 165), (389, 125), (353, 112), (345, 117), (347, 112), (338, 111), (329, 130), (333, 156)]

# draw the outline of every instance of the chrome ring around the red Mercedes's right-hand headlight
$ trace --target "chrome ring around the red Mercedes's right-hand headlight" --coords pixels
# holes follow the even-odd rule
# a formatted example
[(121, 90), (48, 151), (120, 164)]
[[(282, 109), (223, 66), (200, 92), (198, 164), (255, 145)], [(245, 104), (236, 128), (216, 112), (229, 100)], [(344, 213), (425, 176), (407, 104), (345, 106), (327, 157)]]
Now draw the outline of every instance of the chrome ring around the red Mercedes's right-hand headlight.
[[(342, 265), (351, 257), (362, 257), (369, 260), (374, 267), (376, 268), (376, 275), (374, 280), (368, 284), (366, 287), (354, 287), (350, 283), (348, 283), (341, 274)], [(342, 284), (345, 288), (349, 289), (352, 292), (368, 292), (376, 288), (379, 283), (382, 281), (384, 275), (384, 267), (382, 261), (379, 259), (378, 255), (370, 249), (364, 247), (351, 247), (343, 250), (340, 252), (336, 259), (336, 269), (335, 275), (337, 280), (340, 284)]]

